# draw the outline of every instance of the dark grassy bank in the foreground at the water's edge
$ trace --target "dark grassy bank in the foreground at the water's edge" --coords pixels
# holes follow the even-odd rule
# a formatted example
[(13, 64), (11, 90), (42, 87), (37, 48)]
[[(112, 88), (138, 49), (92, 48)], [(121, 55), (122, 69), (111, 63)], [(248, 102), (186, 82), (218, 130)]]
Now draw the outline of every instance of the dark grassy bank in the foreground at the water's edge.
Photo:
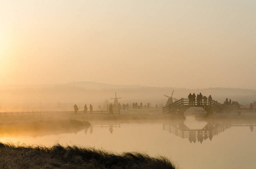
[(24, 147), (0, 143), (0, 168), (175, 168), (165, 157), (115, 154), (93, 148)]

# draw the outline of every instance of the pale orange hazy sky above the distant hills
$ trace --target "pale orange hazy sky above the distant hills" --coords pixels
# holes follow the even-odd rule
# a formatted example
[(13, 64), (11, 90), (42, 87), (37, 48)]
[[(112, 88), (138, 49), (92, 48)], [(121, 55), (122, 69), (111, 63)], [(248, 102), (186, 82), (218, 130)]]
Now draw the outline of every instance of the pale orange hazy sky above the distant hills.
[(256, 1), (0, 0), (0, 84), (256, 89)]

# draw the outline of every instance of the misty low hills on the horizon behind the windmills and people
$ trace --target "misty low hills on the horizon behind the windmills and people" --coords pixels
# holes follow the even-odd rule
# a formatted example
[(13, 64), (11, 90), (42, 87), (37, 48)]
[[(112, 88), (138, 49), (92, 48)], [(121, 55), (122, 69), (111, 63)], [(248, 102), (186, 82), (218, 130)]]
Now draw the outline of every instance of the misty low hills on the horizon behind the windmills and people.
[[(127, 86), (125, 86), (127, 87)], [(132, 88), (101, 88), (86, 89), (81, 86), (55, 85), (50, 87), (25, 87), (1, 89), (0, 111), (3, 110), (72, 110), (72, 105), (77, 104), (83, 108), (84, 104), (92, 104), (95, 109), (103, 106), (105, 101), (112, 103), (115, 92), (121, 104), (132, 103), (150, 103), (151, 106), (156, 104), (165, 105), (167, 97), (187, 98), (189, 93), (205, 96), (212, 96), (212, 99), (223, 103), (225, 98), (232, 101), (238, 101), (242, 105), (249, 105), (256, 101), (256, 90), (239, 89), (239, 88), (203, 88), (190, 90), (188, 88), (172, 87), (132, 87)]]

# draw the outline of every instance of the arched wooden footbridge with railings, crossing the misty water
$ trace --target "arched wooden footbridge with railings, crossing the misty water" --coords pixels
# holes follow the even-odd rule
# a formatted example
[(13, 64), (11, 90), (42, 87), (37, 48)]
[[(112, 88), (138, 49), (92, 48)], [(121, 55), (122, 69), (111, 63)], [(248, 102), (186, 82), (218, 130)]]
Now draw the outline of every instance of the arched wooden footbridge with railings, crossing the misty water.
[[(207, 114), (214, 113), (214, 112), (222, 112), (222, 113), (235, 113), (237, 112), (240, 115), (242, 112), (250, 112), (249, 108), (232, 108), (231, 106), (224, 106), (223, 104), (218, 103), (215, 100), (205, 100), (205, 101), (197, 101), (197, 99), (192, 102), (189, 99), (181, 98), (180, 100), (175, 101), (168, 106), (163, 107), (163, 114), (164, 113), (179, 113), (184, 114), (186, 110), (190, 107), (202, 107), (206, 110)], [(252, 112), (256, 112), (256, 109), (253, 109)]]

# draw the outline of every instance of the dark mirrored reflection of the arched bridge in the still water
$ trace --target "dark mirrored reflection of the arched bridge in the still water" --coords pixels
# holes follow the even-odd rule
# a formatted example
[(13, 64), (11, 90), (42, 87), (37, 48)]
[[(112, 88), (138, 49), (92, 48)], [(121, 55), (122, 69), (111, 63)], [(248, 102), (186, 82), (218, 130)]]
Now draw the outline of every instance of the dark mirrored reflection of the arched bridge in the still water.
[(188, 138), (190, 143), (196, 141), (202, 143), (203, 140), (210, 139), (212, 137), (224, 132), (231, 127), (249, 127), (253, 132), (256, 122), (253, 123), (207, 123), (202, 129), (190, 129), (183, 122), (179, 124), (163, 124), (163, 130), (169, 131), (171, 134), (175, 134), (183, 139)]

